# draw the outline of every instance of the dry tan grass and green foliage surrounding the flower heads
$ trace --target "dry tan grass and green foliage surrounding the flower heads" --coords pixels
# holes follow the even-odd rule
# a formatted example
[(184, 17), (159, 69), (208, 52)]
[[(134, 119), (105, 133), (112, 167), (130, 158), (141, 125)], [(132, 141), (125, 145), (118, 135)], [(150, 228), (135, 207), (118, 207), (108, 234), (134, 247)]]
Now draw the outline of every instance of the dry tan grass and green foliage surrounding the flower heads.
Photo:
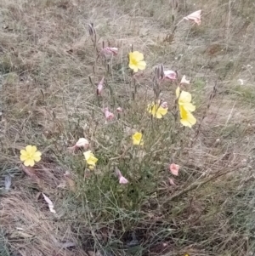
[[(173, 42), (164, 41), (172, 14), (176, 24), (197, 9), (201, 26), (182, 22)], [(0, 191), (1, 255), (255, 253), (252, 0), (3, 0), (0, 10), (0, 177), (13, 180), (10, 191)], [(98, 48), (103, 41), (120, 48), (108, 73), (104, 60), (96, 61), (90, 22)], [(132, 44), (147, 62), (135, 94), (127, 68)], [(198, 120), (192, 129), (170, 114), (151, 122), (144, 112), (158, 64), (191, 78)], [(170, 107), (175, 88), (162, 84)], [(124, 113), (105, 123), (105, 106)], [(132, 131), (141, 129), (150, 138), (143, 150), (130, 145)], [(67, 149), (81, 137), (99, 158), (94, 173), (84, 172), (82, 151)], [(37, 178), (20, 165), (20, 149), (29, 144), (42, 151)], [(182, 167), (175, 186), (167, 182), (170, 162)], [(117, 184), (116, 165), (127, 186)]]

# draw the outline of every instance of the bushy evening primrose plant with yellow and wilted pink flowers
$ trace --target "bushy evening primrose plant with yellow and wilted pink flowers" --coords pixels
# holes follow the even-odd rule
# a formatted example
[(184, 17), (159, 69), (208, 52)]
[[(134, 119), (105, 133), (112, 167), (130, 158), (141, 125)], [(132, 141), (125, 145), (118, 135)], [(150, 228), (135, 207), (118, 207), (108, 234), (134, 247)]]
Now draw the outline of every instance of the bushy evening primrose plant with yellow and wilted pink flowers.
[[(179, 79), (178, 71), (150, 63), (134, 46), (117, 48), (113, 42), (100, 47), (93, 24), (89, 35), (94, 67), (93, 76), (88, 77), (92, 96), (86, 125), (82, 138), (66, 145), (59, 158), (76, 176), (74, 180), (65, 177), (72, 191), (75, 187), (76, 200), (89, 204), (95, 219), (102, 215), (106, 222), (121, 219), (132, 226), (130, 216), (140, 218), (141, 210), (157, 200), (159, 188), (173, 190), (181, 182), (182, 150), (196, 123), (195, 103), (184, 89), (190, 82), (186, 77)], [(122, 60), (120, 53), (125, 51), (128, 54)], [(127, 93), (129, 98), (124, 94), (120, 100), (116, 84), (133, 96)], [(36, 146), (28, 145), (20, 154), (25, 166), (41, 159)]]

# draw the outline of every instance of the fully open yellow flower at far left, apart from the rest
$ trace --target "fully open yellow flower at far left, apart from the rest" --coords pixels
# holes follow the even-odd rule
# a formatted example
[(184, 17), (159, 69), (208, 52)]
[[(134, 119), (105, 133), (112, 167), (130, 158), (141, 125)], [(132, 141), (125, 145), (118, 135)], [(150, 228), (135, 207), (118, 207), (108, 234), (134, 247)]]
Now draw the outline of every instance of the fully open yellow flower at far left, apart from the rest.
[(35, 162), (39, 162), (41, 160), (42, 153), (37, 151), (37, 147), (35, 145), (27, 145), (26, 150), (20, 151), (20, 160), (24, 162), (25, 166), (33, 167)]

